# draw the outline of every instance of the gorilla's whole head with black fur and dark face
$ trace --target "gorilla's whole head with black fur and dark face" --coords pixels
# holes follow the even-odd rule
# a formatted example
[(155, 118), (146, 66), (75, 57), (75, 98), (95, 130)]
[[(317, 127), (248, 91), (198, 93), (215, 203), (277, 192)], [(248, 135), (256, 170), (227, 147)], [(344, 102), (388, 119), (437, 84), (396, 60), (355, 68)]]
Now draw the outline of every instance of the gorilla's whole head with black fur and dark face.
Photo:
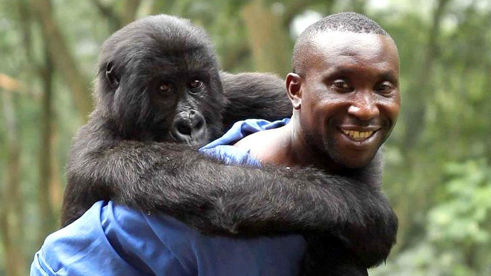
[(221, 132), (224, 97), (215, 50), (188, 20), (158, 15), (104, 43), (96, 112), (123, 139), (203, 145)]

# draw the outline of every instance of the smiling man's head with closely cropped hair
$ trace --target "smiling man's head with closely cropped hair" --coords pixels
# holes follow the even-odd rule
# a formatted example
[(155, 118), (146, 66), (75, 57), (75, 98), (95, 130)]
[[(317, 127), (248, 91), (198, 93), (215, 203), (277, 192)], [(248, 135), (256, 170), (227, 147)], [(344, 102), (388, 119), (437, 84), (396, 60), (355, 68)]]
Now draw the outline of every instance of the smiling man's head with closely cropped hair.
[(363, 15), (332, 15), (300, 35), (292, 67), (286, 85), (303, 143), (328, 163), (367, 165), (399, 113), (392, 38)]

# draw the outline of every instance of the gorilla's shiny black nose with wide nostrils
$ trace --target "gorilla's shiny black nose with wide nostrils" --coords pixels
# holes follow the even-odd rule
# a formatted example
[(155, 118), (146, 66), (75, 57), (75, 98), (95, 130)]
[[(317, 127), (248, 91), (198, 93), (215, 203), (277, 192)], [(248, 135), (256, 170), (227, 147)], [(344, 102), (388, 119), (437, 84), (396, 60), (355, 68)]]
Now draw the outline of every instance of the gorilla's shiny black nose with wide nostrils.
[(174, 118), (172, 133), (176, 139), (188, 144), (201, 140), (206, 134), (205, 118), (195, 110), (181, 112)]

